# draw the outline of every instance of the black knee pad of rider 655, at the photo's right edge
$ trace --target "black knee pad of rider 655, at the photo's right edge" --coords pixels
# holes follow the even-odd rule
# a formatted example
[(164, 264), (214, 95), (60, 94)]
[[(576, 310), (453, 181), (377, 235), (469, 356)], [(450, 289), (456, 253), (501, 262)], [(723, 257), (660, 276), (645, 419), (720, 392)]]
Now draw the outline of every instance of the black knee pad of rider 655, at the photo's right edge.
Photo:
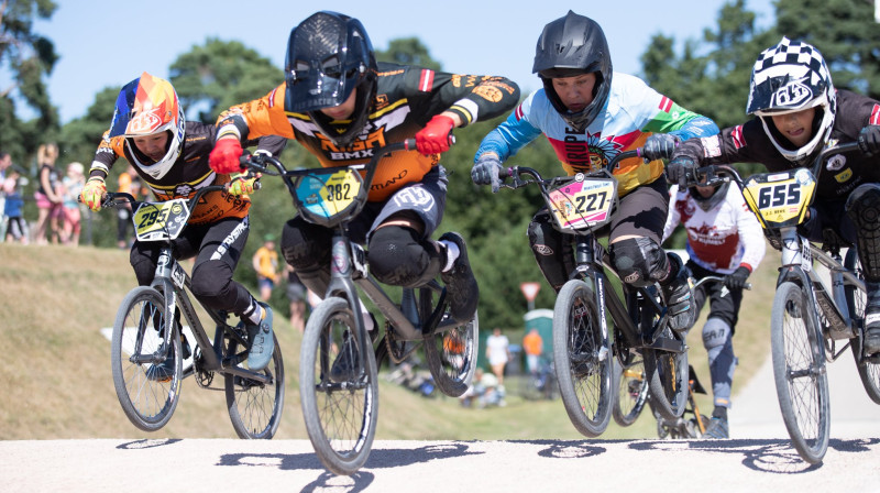
[(880, 185), (859, 185), (846, 200), (846, 213), (856, 226), (859, 261), (865, 278), (880, 281)]

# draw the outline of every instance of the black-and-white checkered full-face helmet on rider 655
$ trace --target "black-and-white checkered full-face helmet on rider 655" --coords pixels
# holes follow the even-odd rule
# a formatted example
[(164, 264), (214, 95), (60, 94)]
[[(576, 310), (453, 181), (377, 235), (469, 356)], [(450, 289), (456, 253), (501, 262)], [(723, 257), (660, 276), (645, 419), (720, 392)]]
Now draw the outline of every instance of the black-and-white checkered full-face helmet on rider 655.
[[(816, 108), (813, 138), (806, 145), (792, 149), (773, 122), (768, 123), (768, 120), (776, 114), (809, 108)], [(746, 112), (761, 119), (765, 132), (787, 160), (803, 164), (821, 147), (831, 135), (836, 110), (832, 75), (822, 53), (814, 46), (783, 36), (779, 44), (758, 56), (751, 72)]]

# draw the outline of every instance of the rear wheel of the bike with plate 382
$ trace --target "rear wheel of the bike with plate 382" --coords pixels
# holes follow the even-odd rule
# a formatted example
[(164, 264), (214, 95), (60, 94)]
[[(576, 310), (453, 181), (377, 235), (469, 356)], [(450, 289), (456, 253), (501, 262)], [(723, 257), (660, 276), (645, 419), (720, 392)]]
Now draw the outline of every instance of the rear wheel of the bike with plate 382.
[[(433, 310), (433, 296), (428, 288), (419, 289), (419, 304), (421, 305), (421, 319), (426, 320)], [(447, 309), (443, 319), (452, 317)], [(431, 375), (446, 395), (458, 397), (464, 394), (476, 370), (477, 346), (480, 330), (480, 314), (474, 313), (474, 318), (465, 325), (458, 326), (425, 338), (425, 359)]]

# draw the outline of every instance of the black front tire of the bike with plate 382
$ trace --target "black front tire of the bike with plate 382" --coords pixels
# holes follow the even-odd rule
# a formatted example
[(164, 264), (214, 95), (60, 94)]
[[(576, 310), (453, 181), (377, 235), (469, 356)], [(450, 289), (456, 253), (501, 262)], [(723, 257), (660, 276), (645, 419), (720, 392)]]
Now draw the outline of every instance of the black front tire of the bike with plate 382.
[[(355, 443), (345, 451), (337, 451), (329, 437), (319, 413), (318, 395), (315, 382), (316, 362), (318, 352), (321, 350), (321, 338), (324, 328), (332, 320), (340, 318), (353, 328), (354, 315), (349, 306), (349, 302), (339, 297), (330, 297), (322, 300), (315, 311), (309, 316), (302, 338), (299, 357), (299, 396), (302, 406), (302, 417), (315, 452), (321, 463), (336, 474), (351, 475), (363, 467), (370, 457), (373, 438), (376, 434), (376, 421), (378, 418), (378, 372), (373, 351), (366, 351), (366, 373), (369, 384), (365, 391), (363, 416), (361, 429), (359, 430)], [(356, 332), (356, 331), (355, 331)], [(358, 337), (355, 335), (355, 337)], [(367, 343), (367, 346), (370, 346)], [(329, 364), (322, 371), (322, 375), (329, 373)], [(348, 391), (344, 391), (348, 392)]]

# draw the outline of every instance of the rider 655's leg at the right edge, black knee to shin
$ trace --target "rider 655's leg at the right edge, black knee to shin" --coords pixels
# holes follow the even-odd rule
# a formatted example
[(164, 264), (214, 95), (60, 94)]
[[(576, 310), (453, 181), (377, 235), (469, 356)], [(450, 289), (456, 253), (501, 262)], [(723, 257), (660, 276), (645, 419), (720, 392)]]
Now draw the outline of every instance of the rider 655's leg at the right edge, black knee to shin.
[(859, 261), (868, 294), (865, 352), (880, 353), (880, 185), (860, 185), (849, 195), (845, 207), (856, 227)]

